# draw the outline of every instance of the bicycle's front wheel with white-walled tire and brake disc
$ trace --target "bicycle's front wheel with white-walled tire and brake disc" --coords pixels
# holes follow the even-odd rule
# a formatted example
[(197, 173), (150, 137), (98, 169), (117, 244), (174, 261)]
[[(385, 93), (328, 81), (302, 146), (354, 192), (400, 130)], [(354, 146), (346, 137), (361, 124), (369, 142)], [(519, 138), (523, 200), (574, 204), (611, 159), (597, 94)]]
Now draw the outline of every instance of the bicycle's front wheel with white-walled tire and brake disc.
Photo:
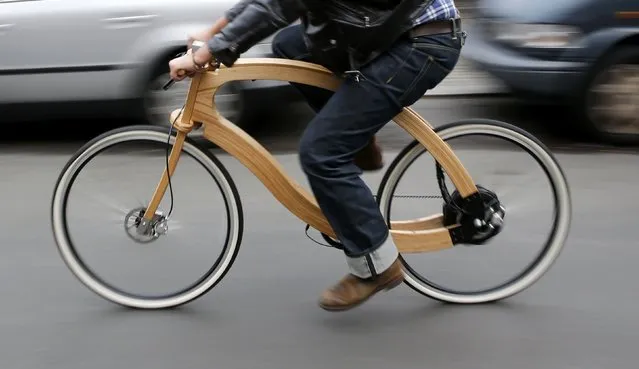
[(60, 255), (111, 302), (139, 309), (185, 304), (217, 285), (238, 254), (243, 218), (235, 184), (190, 138), (152, 231), (137, 231), (174, 142), (168, 129), (149, 126), (106, 132), (78, 150), (56, 183), (51, 219)]

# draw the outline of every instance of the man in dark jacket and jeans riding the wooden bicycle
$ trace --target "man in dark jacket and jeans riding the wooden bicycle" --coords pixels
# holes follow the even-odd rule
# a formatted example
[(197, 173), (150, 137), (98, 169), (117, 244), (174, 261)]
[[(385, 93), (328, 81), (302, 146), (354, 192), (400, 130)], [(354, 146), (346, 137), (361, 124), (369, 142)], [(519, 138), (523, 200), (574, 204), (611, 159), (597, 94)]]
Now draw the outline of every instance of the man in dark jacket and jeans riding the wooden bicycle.
[[(335, 24), (362, 19), (366, 30), (371, 19), (375, 23), (389, 9), (400, 14), (392, 10), (402, 6), (408, 12), (391, 16), (383, 32), (371, 31), (370, 40), (362, 33), (358, 45), (369, 41), (378, 42), (377, 47), (341, 47), (344, 39), (355, 36), (332, 32), (339, 29)], [(298, 19), (300, 25), (290, 26)], [(382, 166), (375, 135), (450, 73), (465, 34), (454, 0), (242, 0), (212, 28), (191, 36), (189, 46), (200, 40), (208, 47), (173, 59), (171, 77), (181, 80), (211, 60), (232, 66), (243, 52), (279, 30), (275, 55), (321, 64), (343, 77), (335, 92), (294, 86), (317, 113), (301, 138), (300, 162), (350, 271), (322, 294), (319, 305), (347, 310), (403, 280), (388, 226), (360, 178), (362, 170)]]

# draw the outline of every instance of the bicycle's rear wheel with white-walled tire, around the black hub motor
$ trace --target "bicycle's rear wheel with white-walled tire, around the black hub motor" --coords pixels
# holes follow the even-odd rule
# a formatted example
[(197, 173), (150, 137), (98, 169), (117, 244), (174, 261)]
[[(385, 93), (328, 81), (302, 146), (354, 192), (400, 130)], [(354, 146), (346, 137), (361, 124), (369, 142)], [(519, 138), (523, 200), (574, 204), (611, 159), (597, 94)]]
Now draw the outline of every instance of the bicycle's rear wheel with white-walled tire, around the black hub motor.
[[(570, 228), (570, 192), (558, 162), (541, 142), (506, 123), (474, 119), (440, 126), (435, 131), (450, 145), (475, 183), (499, 197), (506, 215), (501, 232), (486, 244), (458, 244), (437, 253), (402, 254), (405, 282), (423, 295), (458, 304), (496, 301), (530, 287), (557, 259)], [(442, 190), (435, 180), (437, 163), (427, 153), (414, 141), (386, 172), (377, 199), (389, 225), (393, 220), (442, 213)], [(410, 169), (418, 159), (426, 163), (414, 170), (416, 178), (400, 183), (412, 177)], [(449, 178), (444, 180), (454, 189)], [(505, 190), (498, 181), (515, 183)], [(404, 211), (402, 205), (406, 205)], [(544, 206), (549, 209), (543, 210)], [(419, 257), (428, 266), (418, 268), (418, 260), (411, 260)], [(500, 266), (500, 262), (505, 265)]]

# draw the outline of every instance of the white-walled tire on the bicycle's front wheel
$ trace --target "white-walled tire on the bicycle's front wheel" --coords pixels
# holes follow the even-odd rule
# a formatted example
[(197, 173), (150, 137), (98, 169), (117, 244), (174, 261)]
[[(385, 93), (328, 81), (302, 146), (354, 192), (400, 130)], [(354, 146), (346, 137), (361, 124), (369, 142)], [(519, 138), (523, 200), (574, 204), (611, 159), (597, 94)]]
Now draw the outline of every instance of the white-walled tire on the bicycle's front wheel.
[[(171, 143), (175, 136), (171, 137)], [(100, 280), (88, 265), (79, 258), (68, 233), (66, 204), (71, 185), (84, 165), (103, 150), (119, 143), (149, 141), (166, 144), (168, 129), (151, 126), (129, 126), (106, 132), (80, 148), (67, 162), (55, 185), (51, 223), (58, 251), (69, 270), (91, 291), (113, 303), (138, 309), (163, 309), (186, 304), (215, 287), (229, 271), (239, 252), (243, 232), (242, 204), (236, 186), (222, 163), (210, 152), (201, 149), (192, 139), (186, 139), (183, 154), (199, 162), (217, 184), (226, 205), (227, 234), (222, 256), (202, 278), (191, 286), (171, 295), (142, 297), (123, 292)], [(179, 165), (178, 165), (179, 166)], [(162, 173), (158, 172), (158, 180)], [(149, 183), (149, 196), (157, 183)], [(168, 191), (167, 191), (168, 192)]]

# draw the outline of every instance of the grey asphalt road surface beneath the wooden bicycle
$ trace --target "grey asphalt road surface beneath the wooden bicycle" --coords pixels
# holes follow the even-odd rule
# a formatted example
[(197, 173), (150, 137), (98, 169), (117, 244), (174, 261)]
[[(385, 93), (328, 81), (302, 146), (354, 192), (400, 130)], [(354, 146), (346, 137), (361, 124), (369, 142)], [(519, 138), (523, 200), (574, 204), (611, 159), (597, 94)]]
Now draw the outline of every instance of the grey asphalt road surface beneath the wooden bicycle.
[[(561, 121), (556, 113), (539, 113), (539, 108), (502, 100), (427, 101), (418, 104), (418, 110), (435, 125), (471, 116), (513, 121), (530, 127), (555, 151), (571, 185), (573, 226), (560, 259), (532, 288), (498, 304), (451, 306), (402, 286), (351, 312), (324, 312), (316, 299), (344, 273), (339, 253), (308, 240), (304, 224), (277, 204), (246, 169), (220, 156), (237, 183), (246, 222), (240, 256), (230, 274), (208, 295), (177, 310), (143, 312), (114, 306), (89, 292), (66, 269), (49, 221), (59, 171), (72, 151), (100, 129), (70, 137), (61, 133), (62, 124), (51, 129), (40, 123), (28, 133), (5, 136), (0, 148), (2, 367), (636, 368), (639, 249), (634, 232), (637, 200), (632, 193), (639, 180), (637, 152), (566, 139), (552, 133), (551, 128)], [(265, 117), (265, 124), (274, 118)], [(286, 126), (286, 130), (284, 125), (277, 126), (281, 131), (265, 126), (258, 135), (278, 152), (277, 159), (291, 175), (305, 183), (290, 152), (303, 123)], [(408, 141), (392, 126), (380, 138), (388, 160)], [(484, 160), (489, 154), (498, 159)], [(509, 173), (521, 170), (519, 157), (507, 151), (475, 150), (462, 160), (474, 168), (493, 164), (510, 168)], [(140, 192), (145, 184), (141, 178), (160, 175), (138, 162), (111, 159), (106, 164), (108, 170), (93, 182), (95, 187), (85, 188), (113, 190), (116, 186), (110, 181), (122, 182), (128, 177), (121, 174), (127, 173), (137, 176), (122, 182), (129, 192), (145, 196), (145, 191)], [(173, 254), (175, 263), (149, 263), (139, 249), (118, 254), (119, 245), (107, 236), (116, 234), (109, 229), (119, 220), (108, 217), (113, 214), (109, 209), (96, 211), (93, 206), (98, 202), (89, 202), (90, 196), (78, 197), (76, 234), (86, 241), (84, 249), (100, 250), (93, 260), (111, 263), (114, 277), (122, 281), (129, 277), (129, 283), (144, 280), (160, 287), (165, 279), (168, 284), (169, 277), (188, 276), (197, 269), (194, 265), (204, 265), (203, 253), (210, 251), (211, 240), (206, 237), (213, 232), (207, 227), (216, 223), (204, 225), (207, 209), (201, 205), (208, 200), (208, 187), (200, 177), (187, 176), (186, 169), (184, 173), (176, 184), (182, 192), (176, 193), (175, 217), (188, 213), (199, 221), (174, 226), (171, 234), (184, 237), (177, 243), (179, 253)], [(527, 174), (523, 183), (530, 185), (524, 188), (523, 206), (518, 206), (532, 215), (515, 218), (528, 222), (519, 223), (522, 228), (509, 234), (512, 246), (529, 244), (539, 235), (541, 228), (536, 225), (543, 221), (545, 198), (537, 186), (539, 178), (531, 177), (532, 172), (522, 173)], [(379, 173), (366, 176), (374, 189), (380, 178)], [(416, 182), (409, 185), (419, 187)], [(482, 250), (474, 250), (474, 255), (483, 255)], [(507, 249), (486, 252), (491, 256), (477, 256), (481, 262), (462, 265), (473, 267), (479, 276), (492, 275), (521, 256)], [(474, 277), (459, 265), (437, 263), (432, 270), (448, 273), (451, 282)]]

